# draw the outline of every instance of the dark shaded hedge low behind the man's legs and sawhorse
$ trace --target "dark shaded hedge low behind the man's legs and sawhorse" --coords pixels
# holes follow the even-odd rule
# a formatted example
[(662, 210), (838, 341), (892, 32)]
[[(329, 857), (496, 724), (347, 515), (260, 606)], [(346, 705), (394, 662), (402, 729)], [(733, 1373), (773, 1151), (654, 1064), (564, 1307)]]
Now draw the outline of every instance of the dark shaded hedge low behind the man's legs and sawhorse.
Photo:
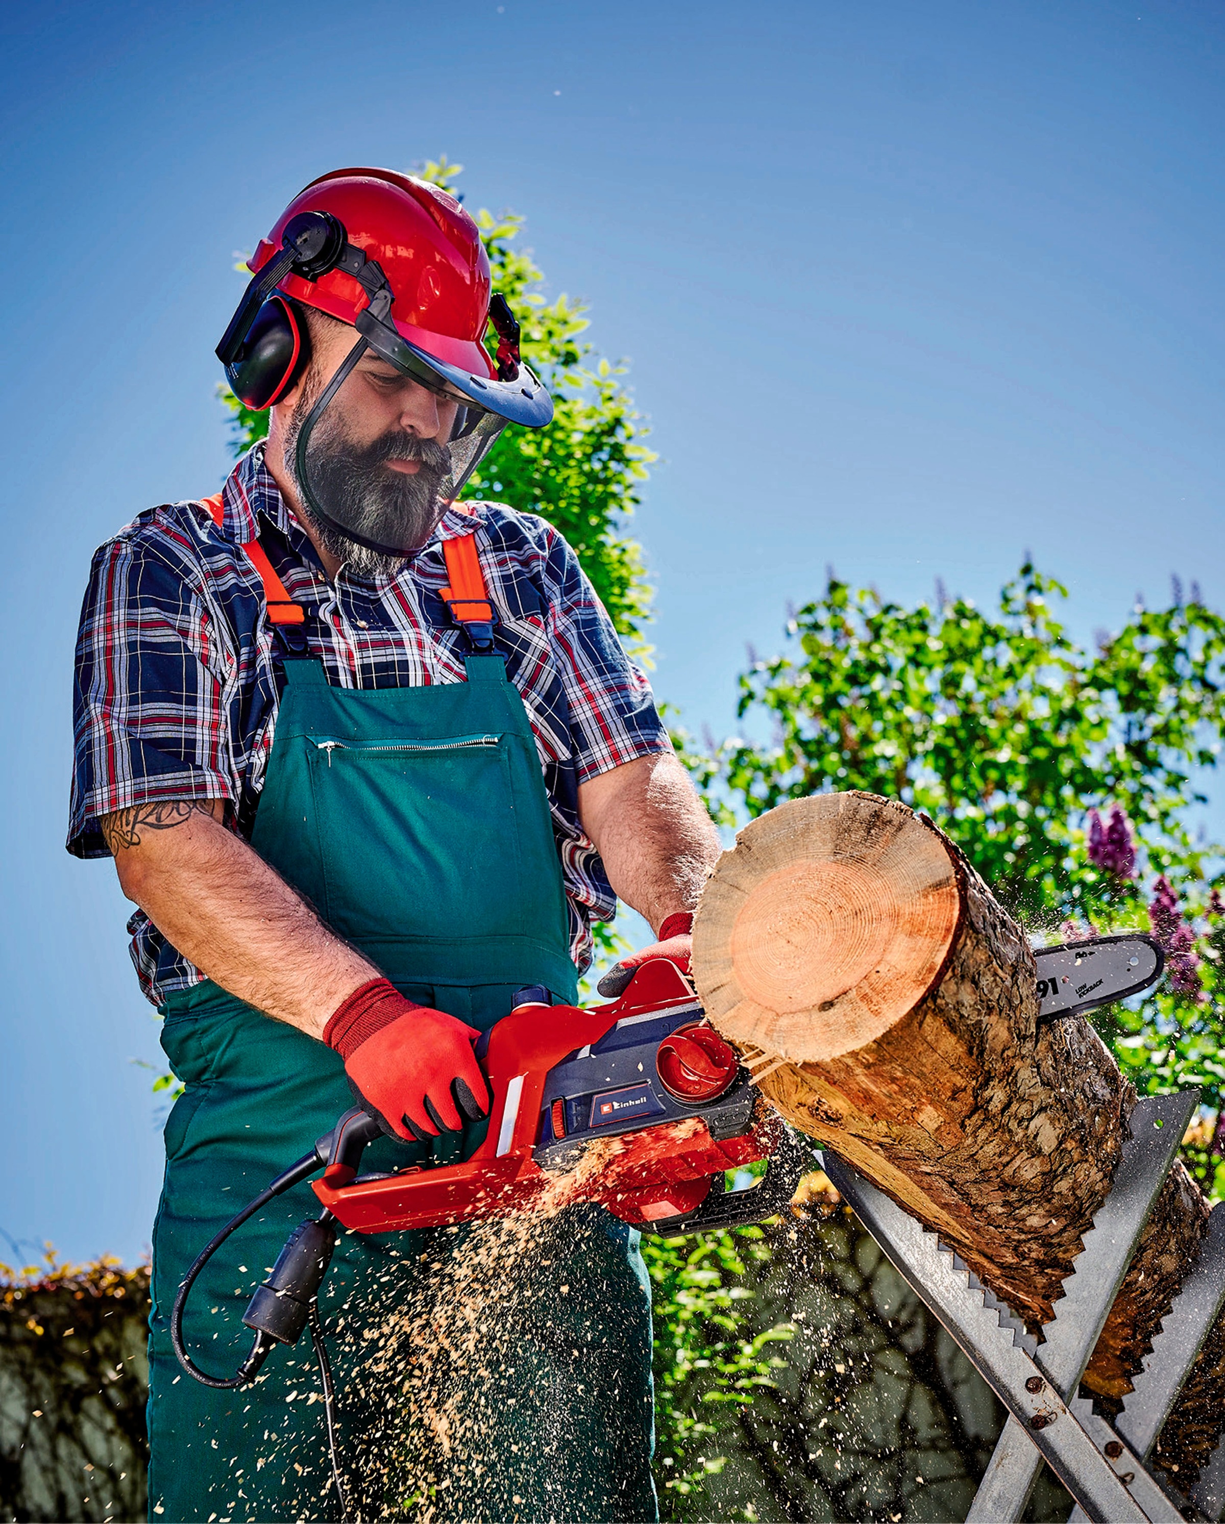
[[(671, 1241), (674, 1268), (656, 1280), (664, 1516), (964, 1518), (1002, 1410), (873, 1239), (841, 1209), (732, 1239), (735, 1274), (691, 1236)], [(731, 1335), (723, 1367), (763, 1335), (775, 1356), (743, 1402), (683, 1353), (696, 1341), (677, 1335), (677, 1309), (700, 1276), (722, 1277), (734, 1303), (732, 1326), (703, 1335)], [(143, 1268), (0, 1282), (0, 1518), (143, 1518), (146, 1318)], [(789, 1337), (770, 1340), (778, 1329)], [(1043, 1474), (1030, 1518), (1063, 1519), (1069, 1506)]]

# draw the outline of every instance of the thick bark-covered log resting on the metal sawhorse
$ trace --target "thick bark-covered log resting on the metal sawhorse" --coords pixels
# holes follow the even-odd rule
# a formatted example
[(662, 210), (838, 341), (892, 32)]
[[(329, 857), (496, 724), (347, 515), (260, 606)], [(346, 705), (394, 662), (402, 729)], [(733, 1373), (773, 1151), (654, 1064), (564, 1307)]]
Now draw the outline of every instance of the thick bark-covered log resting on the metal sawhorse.
[[(847, 792), (755, 820), (705, 888), (693, 968), (711, 1021), (789, 1122), (935, 1228), (1031, 1327), (1050, 1320), (1135, 1094), (1088, 1021), (1037, 1021), (1025, 933), (926, 817)], [(1108, 1408), (1207, 1210), (1176, 1164), (1085, 1375)], [(1162, 1433), (1184, 1487), (1222, 1420), (1217, 1330)]]

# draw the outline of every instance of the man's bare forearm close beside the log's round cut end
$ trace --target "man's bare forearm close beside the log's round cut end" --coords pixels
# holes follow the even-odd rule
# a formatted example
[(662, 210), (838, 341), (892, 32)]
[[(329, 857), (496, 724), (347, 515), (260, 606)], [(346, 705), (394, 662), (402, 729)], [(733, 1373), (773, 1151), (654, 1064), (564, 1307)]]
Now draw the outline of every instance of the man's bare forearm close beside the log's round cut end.
[(671, 753), (639, 757), (580, 785), (578, 812), (618, 898), (654, 931), (697, 905), (719, 858), (719, 834)]

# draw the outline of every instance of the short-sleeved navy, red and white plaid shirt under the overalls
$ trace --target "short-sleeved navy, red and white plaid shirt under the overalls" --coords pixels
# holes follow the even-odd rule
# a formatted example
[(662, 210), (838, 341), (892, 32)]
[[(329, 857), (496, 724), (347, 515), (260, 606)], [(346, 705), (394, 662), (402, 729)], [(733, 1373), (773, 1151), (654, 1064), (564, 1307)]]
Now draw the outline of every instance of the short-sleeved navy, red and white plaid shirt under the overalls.
[[(226, 820), (250, 837), (278, 709), (262, 587), (241, 550), (256, 532), (307, 607), (310, 651), (337, 687), (464, 681), (467, 637), (441, 597), (441, 546), (476, 533), (497, 649), (523, 696), (549, 796), (571, 956), (584, 969), (589, 924), (610, 920), (616, 896), (578, 823), (578, 785), (667, 751), (668, 736), (574, 552), (534, 514), (465, 503), (394, 578), (342, 570), (331, 584), (262, 445), (226, 482), (220, 530), (200, 503), (172, 503), (140, 514), (93, 558), (76, 643), (69, 852), (107, 856), (99, 815), (157, 799), (224, 799)], [(128, 931), (154, 1004), (203, 978), (142, 911)]]

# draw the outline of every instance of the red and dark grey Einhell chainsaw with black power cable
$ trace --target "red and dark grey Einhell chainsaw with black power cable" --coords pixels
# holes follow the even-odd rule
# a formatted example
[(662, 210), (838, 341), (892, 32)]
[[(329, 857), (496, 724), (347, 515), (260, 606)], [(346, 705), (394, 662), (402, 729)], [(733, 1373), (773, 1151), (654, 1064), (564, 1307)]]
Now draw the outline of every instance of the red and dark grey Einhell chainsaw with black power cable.
[[(1039, 948), (1034, 959), (1040, 1023), (1135, 995), (1164, 969), (1161, 946), (1138, 934)], [(316, 1295), (337, 1227), (397, 1233), (583, 1201), (648, 1233), (694, 1233), (773, 1216), (815, 1167), (667, 959), (644, 963), (618, 1000), (586, 1009), (555, 1006), (539, 986), (519, 991), (476, 1056), (493, 1099), (470, 1158), (363, 1175), (362, 1155), (381, 1134), (355, 1106), (212, 1239), (171, 1315), (186, 1372), (211, 1387), (246, 1385), (272, 1349), (296, 1344), (310, 1321), (326, 1394)], [(754, 1175), (761, 1163), (764, 1173)], [(313, 1186), (320, 1216), (294, 1228), (243, 1317), (255, 1332), (250, 1355), (235, 1376), (209, 1376), (182, 1337), (192, 1283), (230, 1233), (320, 1169)]]

